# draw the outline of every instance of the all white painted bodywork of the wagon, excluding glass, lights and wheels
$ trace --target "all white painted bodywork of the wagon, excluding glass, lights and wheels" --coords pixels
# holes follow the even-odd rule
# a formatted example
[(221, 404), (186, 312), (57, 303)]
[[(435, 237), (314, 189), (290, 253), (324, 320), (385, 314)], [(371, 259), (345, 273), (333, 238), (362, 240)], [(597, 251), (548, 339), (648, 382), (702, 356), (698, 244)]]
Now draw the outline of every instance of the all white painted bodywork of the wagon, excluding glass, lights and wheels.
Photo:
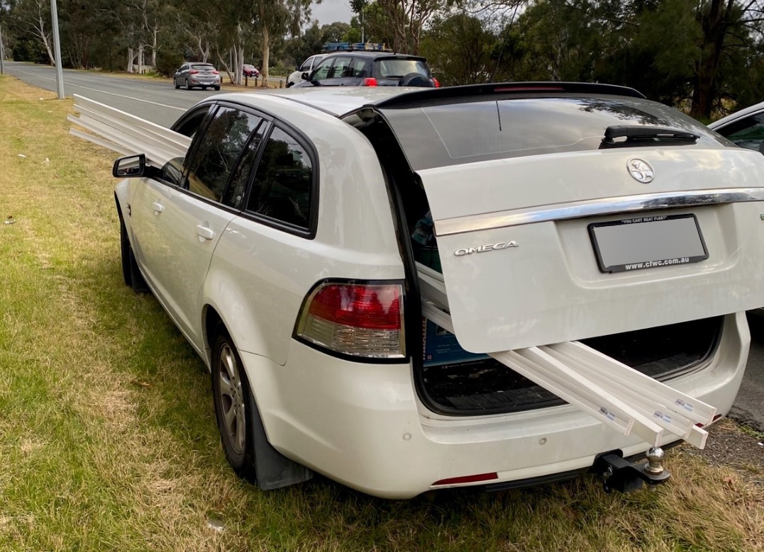
[[(585, 470), (606, 450), (643, 453), (649, 445), (639, 437), (617, 434), (569, 405), (502, 415), (439, 414), (418, 394), (416, 360), (349, 360), (293, 337), (299, 309), (318, 282), (406, 279), (377, 153), (361, 132), (335, 117), (404, 92), (289, 89), (211, 98), (277, 115), (312, 142), (320, 179), (316, 232), (290, 234), (148, 179), (120, 182), (115, 194), (128, 237), (157, 299), (208, 366), (206, 315), (217, 312), (241, 354), (273, 447), (376, 496), (408, 498), (468, 485), (435, 482), (475, 474), (496, 473), (485, 483), (507, 483)], [(626, 161), (632, 157), (652, 164), (652, 182), (629, 176)], [(473, 226), (577, 202), (761, 189), (762, 163), (755, 152), (686, 146), (420, 170), (461, 345), (492, 352), (725, 315), (710, 357), (669, 382), (728, 412), (749, 347), (742, 311), (764, 304), (756, 277), (764, 268), (762, 202), (674, 209), (698, 217), (709, 259), (618, 274), (598, 270), (587, 224), (624, 218), (623, 212)], [(511, 189), (503, 186), (509, 181)], [(209, 228), (211, 240), (199, 236), (198, 225)], [(453, 254), (507, 240), (520, 247)]]

